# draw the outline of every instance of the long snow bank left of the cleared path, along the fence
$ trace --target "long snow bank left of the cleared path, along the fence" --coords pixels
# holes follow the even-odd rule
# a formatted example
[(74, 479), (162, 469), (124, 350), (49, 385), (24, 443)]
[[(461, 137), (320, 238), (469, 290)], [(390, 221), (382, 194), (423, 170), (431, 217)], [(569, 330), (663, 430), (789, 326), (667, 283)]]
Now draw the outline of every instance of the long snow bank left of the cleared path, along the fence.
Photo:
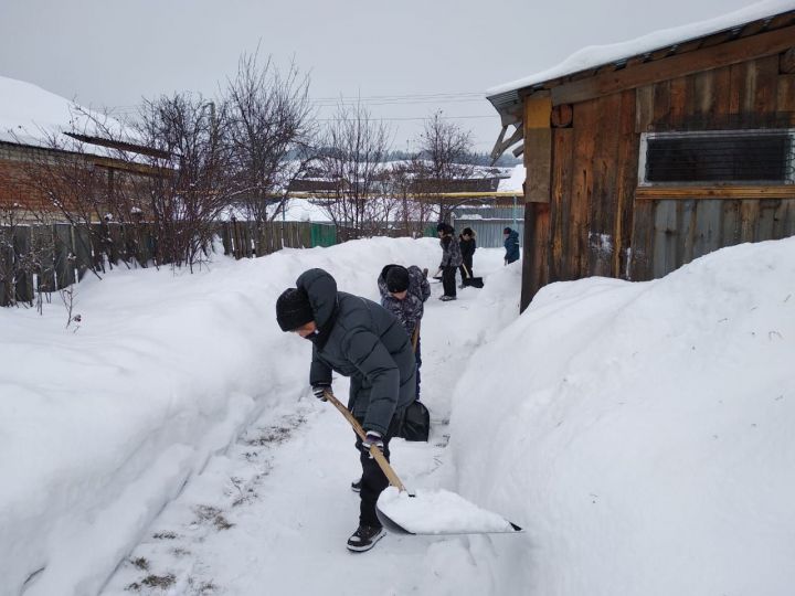
[(195, 275), (116, 270), (77, 286), (76, 332), (60, 304), (0, 309), (0, 595), (31, 576), (25, 596), (97, 593), (212, 454), (308, 391), (311, 345), (274, 315), (304, 269), (375, 297), (383, 265), (432, 266), (438, 251), (374, 238)]

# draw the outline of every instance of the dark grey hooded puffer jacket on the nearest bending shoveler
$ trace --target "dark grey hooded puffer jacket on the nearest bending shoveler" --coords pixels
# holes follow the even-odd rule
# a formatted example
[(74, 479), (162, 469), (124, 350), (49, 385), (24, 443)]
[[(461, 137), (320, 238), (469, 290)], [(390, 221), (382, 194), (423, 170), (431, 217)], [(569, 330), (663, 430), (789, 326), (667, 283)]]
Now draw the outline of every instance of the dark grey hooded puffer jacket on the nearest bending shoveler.
[(392, 416), (414, 401), (414, 353), (403, 327), (372, 300), (337, 291), (324, 269), (296, 281), (309, 296), (321, 341), (315, 341), (309, 383), (331, 383), (331, 371), (351, 377), (348, 409), (364, 430), (385, 435)]

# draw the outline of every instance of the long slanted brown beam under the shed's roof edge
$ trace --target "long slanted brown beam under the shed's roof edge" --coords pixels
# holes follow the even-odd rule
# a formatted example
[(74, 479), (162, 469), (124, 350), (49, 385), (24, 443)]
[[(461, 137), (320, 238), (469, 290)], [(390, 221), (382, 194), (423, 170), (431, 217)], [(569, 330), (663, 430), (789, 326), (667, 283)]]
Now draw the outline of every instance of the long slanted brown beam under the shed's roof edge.
[(553, 88), (551, 91), (552, 105), (584, 102), (678, 76), (778, 54), (792, 47), (793, 40), (795, 40), (795, 26), (791, 25), (686, 54), (675, 54), (630, 68), (603, 73), (592, 78), (566, 83)]

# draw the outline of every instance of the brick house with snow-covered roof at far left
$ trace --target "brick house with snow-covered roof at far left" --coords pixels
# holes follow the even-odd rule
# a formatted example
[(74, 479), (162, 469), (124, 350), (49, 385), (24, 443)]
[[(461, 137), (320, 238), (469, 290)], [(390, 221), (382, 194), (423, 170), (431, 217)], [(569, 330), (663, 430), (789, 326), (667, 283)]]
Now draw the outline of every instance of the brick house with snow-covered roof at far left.
[(107, 195), (129, 177), (157, 174), (142, 163), (114, 156), (119, 151), (167, 156), (104, 138), (88, 115), (85, 108), (35, 85), (0, 77), (0, 213), (19, 219), (61, 219), (61, 210), (41, 185), (31, 183), (32, 178), (49, 175), (49, 167), (55, 162), (70, 164), (74, 171), (99, 172), (93, 177), (102, 184), (96, 192)]

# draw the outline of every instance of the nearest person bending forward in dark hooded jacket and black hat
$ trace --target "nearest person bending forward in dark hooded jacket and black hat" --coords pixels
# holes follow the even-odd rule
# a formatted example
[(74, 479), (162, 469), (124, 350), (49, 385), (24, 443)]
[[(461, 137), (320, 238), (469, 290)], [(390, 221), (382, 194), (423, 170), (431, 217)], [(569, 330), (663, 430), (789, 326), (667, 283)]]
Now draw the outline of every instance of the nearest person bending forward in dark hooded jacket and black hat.
[(411, 341), (400, 321), (382, 306), (337, 290), (324, 269), (304, 272), (295, 288), (276, 300), (276, 320), (312, 342), (309, 384), (326, 401), (331, 373), (350, 376), (348, 409), (362, 425), (357, 436), (362, 466), (359, 528), (348, 539), (351, 551), (368, 551), (384, 535), (375, 502), (389, 480), (370, 456), (370, 447), (389, 459), (389, 443), (403, 409), (414, 401), (416, 365)]

